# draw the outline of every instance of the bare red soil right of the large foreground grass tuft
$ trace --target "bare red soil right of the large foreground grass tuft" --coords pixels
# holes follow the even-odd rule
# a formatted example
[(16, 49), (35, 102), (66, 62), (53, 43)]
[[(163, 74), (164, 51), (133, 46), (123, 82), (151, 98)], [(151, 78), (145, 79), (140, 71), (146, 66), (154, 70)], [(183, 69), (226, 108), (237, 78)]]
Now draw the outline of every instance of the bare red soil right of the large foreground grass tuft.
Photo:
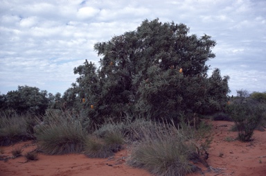
[[(192, 175), (266, 175), (266, 132), (255, 130), (253, 141), (243, 143), (237, 140), (238, 132), (231, 132), (233, 122), (212, 121), (213, 142), (209, 149), (208, 164), (202, 174)], [(190, 175), (190, 176), (192, 176)]]

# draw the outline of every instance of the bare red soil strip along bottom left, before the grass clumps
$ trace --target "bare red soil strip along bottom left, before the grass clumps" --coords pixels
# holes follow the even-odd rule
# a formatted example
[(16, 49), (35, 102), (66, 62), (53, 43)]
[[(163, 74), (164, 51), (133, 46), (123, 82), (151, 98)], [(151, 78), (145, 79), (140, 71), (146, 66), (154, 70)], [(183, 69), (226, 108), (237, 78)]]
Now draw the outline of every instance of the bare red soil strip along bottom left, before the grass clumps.
[[(12, 157), (11, 151), (15, 148), (24, 148), (23, 155), (26, 152), (35, 150), (36, 146), (32, 141), (18, 143), (15, 146), (4, 147), (4, 153), (1, 156)], [(21, 176), (85, 176), (85, 175), (150, 175), (147, 171), (138, 168), (132, 168), (125, 164), (129, 157), (130, 149), (126, 148), (116, 153), (114, 157), (108, 159), (90, 159), (82, 154), (70, 155), (44, 155), (38, 154), (37, 161), (27, 161), (26, 157), (17, 157), (0, 161), (0, 175), (21, 175)], [(3, 158), (3, 157), (2, 157)]]

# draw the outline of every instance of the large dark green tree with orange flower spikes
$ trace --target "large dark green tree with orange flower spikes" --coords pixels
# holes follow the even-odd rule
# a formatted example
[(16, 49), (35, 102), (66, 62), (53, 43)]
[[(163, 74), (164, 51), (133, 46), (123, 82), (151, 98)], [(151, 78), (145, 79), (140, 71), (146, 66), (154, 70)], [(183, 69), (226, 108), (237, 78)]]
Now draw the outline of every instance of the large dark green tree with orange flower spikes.
[(93, 124), (128, 114), (179, 121), (179, 114), (221, 110), (229, 77), (215, 69), (208, 78), (206, 65), (215, 57), (215, 41), (188, 32), (184, 24), (145, 20), (134, 31), (96, 43), (100, 67), (86, 60), (74, 69), (79, 78), (63, 96), (67, 107)]

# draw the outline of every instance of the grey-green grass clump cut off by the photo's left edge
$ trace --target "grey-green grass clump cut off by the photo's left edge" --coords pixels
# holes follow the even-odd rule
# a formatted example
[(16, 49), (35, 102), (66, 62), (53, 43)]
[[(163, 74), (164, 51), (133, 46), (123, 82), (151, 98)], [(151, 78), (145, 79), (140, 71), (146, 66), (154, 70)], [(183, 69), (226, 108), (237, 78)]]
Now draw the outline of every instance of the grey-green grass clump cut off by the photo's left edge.
[(25, 116), (0, 115), (0, 146), (10, 146), (29, 139)]

